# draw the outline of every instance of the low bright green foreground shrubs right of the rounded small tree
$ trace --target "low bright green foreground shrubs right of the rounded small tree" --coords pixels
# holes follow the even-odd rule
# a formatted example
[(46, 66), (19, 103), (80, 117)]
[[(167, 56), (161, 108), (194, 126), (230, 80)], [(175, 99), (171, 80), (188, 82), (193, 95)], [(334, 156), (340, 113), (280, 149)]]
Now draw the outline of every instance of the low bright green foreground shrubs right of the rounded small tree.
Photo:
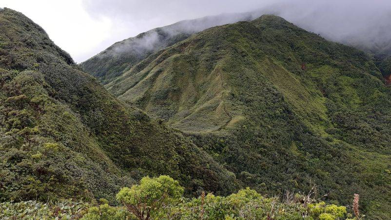
[[(208, 194), (205, 198), (176, 200), (167, 203), (163, 209), (157, 210), (151, 217), (152, 219), (205, 220), (310, 220), (330, 217), (332, 220), (337, 220), (346, 215), (344, 206), (326, 205), (325, 202), (310, 203), (310, 205), (312, 208), (306, 212), (305, 205), (299, 200), (281, 201), (278, 198), (265, 198), (255, 190), (246, 188), (227, 197)], [(314, 206), (322, 206), (322, 208), (315, 209)]]

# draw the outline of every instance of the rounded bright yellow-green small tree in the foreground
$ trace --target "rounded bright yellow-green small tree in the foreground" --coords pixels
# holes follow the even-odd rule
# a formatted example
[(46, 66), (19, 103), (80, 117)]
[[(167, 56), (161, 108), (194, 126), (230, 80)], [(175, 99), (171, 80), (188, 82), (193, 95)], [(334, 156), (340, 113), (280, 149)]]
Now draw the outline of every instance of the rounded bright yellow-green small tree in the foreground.
[(117, 200), (139, 220), (149, 220), (151, 214), (170, 201), (183, 195), (183, 187), (169, 176), (144, 177), (139, 185), (124, 187), (117, 194)]

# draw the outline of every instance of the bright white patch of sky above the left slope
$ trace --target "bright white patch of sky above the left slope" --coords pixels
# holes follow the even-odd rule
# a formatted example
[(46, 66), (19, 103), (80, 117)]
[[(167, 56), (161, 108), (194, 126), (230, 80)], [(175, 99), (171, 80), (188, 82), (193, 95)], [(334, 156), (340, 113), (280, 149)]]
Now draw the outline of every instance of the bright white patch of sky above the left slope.
[(107, 17), (92, 18), (79, 0), (2, 0), (1, 7), (19, 11), (38, 23), (59, 47), (80, 62), (96, 53), (112, 32)]

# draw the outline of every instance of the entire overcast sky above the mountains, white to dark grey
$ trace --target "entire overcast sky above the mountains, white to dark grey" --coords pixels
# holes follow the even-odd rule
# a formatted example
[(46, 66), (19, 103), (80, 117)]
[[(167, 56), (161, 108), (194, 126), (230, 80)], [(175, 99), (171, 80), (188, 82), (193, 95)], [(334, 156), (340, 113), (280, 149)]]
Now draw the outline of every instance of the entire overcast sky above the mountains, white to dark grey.
[(38, 23), (77, 62), (179, 20), (264, 8), (331, 40), (391, 39), (391, 0), (1, 0), (0, 7)]

